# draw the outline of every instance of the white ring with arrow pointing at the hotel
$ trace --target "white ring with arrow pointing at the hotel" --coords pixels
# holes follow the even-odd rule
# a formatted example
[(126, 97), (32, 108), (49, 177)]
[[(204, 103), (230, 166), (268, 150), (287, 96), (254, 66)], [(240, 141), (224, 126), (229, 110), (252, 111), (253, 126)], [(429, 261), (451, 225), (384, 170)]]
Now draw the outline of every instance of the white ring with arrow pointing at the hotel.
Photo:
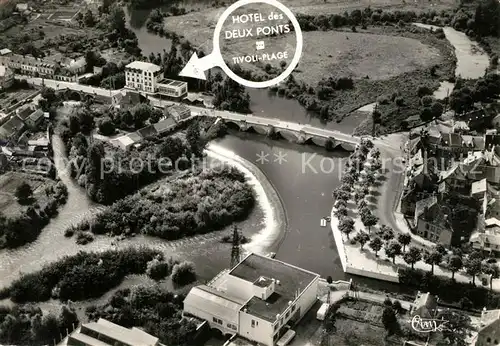
[[(262, 82), (249, 81), (247, 79), (241, 78), (240, 76), (236, 75), (236, 73), (234, 73), (224, 61), (219, 41), (222, 27), (226, 19), (229, 17), (229, 15), (242, 6), (256, 4), (256, 3), (268, 4), (281, 10), (281, 12), (283, 12), (292, 23), (295, 37), (297, 40), (295, 54), (288, 67), (279, 76), (271, 80)], [(215, 27), (212, 52), (202, 58), (199, 58), (198, 55), (194, 53), (189, 59), (186, 66), (179, 73), (179, 76), (206, 80), (205, 71), (218, 66), (226, 73), (226, 75), (229, 78), (231, 78), (232, 80), (238, 82), (243, 86), (250, 88), (267, 88), (282, 82), (293, 72), (295, 67), (297, 67), (300, 57), (302, 55), (302, 45), (303, 45), (302, 30), (300, 29), (300, 25), (299, 22), (297, 21), (297, 18), (295, 18), (295, 15), (292, 13), (292, 11), (288, 9), (288, 7), (286, 7), (285, 5), (276, 0), (240, 0), (229, 6), (224, 11), (222, 16), (219, 18), (217, 26)]]

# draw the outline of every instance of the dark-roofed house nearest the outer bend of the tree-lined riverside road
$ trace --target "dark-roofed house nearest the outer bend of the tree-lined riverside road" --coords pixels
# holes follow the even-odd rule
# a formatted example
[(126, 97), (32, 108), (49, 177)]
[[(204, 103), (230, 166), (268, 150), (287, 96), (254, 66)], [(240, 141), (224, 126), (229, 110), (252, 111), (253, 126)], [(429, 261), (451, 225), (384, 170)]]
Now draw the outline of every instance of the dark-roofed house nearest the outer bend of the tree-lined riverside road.
[(421, 237), (444, 246), (451, 245), (453, 229), (445, 207), (438, 203), (436, 196), (416, 203), (414, 225)]

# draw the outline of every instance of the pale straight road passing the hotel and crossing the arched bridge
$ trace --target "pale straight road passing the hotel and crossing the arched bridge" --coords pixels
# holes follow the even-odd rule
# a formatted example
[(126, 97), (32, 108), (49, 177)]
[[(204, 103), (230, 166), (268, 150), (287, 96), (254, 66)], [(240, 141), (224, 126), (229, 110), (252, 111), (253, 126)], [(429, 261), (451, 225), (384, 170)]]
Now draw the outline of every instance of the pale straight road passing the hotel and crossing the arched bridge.
[[(26, 76), (21, 76), (21, 75), (16, 75), (16, 78), (19, 79), (26, 79), (28, 83), (34, 84), (34, 85), (42, 85), (44, 84), (45, 86), (48, 86), (50, 88), (56, 89), (56, 90), (64, 90), (64, 89), (71, 89), (75, 91), (82, 91), (88, 94), (95, 94), (99, 96), (106, 96), (110, 97), (112, 95), (115, 95), (119, 93), (121, 90), (108, 90), (108, 89), (102, 89), (102, 88), (96, 88), (88, 85), (81, 85), (78, 83), (74, 82), (62, 82), (62, 81), (56, 81), (52, 79), (42, 79), (42, 78), (30, 78)], [(152, 96), (148, 96), (148, 99), (150, 100), (151, 104), (155, 107), (162, 107), (166, 104), (173, 104), (175, 102), (171, 101), (164, 101)], [(208, 116), (213, 116), (213, 117), (220, 117), (223, 119), (230, 119), (230, 120), (235, 120), (235, 121), (245, 121), (250, 124), (259, 124), (259, 125), (271, 125), (276, 128), (280, 129), (288, 129), (291, 131), (295, 132), (304, 132), (306, 134), (310, 135), (315, 135), (315, 136), (320, 136), (320, 137), (333, 137), (337, 141), (345, 142), (345, 143), (350, 143), (350, 144), (357, 144), (359, 143), (360, 138), (359, 137), (354, 137), (349, 134), (342, 133), (340, 131), (336, 130), (325, 130), (321, 129), (318, 127), (313, 127), (310, 125), (306, 124), (298, 124), (294, 122), (289, 122), (289, 121), (283, 121), (280, 119), (275, 119), (275, 118), (268, 118), (268, 117), (259, 117), (255, 116), (253, 114), (239, 114), (239, 113), (233, 113), (233, 112), (228, 112), (228, 111), (219, 111), (219, 110), (207, 110), (206, 108), (203, 107), (195, 107), (195, 106), (189, 106), (191, 108), (192, 112), (196, 113), (203, 113)]]

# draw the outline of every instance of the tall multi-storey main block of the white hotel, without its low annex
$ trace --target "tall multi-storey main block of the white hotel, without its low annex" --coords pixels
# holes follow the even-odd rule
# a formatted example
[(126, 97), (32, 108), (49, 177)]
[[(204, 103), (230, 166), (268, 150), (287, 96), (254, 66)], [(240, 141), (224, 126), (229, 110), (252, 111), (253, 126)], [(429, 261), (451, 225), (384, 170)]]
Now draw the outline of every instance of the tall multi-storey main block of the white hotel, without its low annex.
[(163, 79), (161, 67), (149, 62), (134, 61), (125, 66), (127, 88), (154, 93), (156, 83)]

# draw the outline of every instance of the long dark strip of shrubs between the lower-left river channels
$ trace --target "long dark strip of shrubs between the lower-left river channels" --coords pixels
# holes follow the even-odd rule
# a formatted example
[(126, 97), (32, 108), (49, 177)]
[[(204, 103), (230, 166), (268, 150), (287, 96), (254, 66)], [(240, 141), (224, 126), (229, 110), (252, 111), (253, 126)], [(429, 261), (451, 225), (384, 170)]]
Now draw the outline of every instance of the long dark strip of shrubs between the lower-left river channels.
[(129, 274), (143, 274), (147, 263), (161, 254), (147, 248), (79, 252), (26, 274), (8, 288), (12, 301), (38, 302), (51, 297), (85, 300), (99, 297)]

